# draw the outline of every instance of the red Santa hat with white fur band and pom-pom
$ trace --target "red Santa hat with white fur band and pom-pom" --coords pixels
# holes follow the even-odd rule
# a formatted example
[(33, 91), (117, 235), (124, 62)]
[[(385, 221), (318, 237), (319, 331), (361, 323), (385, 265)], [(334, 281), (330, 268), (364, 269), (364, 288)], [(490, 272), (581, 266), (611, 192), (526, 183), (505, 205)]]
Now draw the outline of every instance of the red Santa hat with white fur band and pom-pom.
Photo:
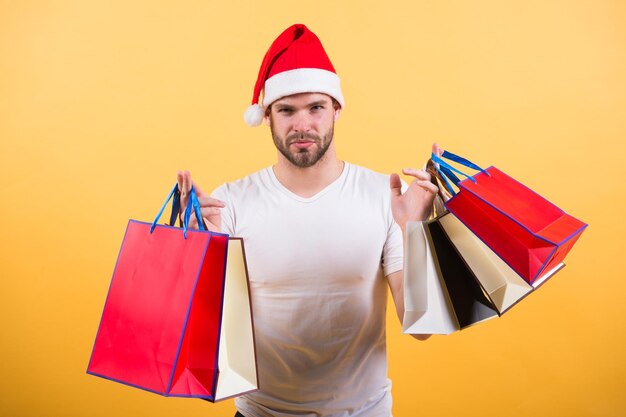
[[(263, 102), (259, 97), (263, 90)], [(263, 58), (244, 120), (249, 126), (263, 121), (265, 109), (281, 97), (298, 93), (324, 93), (344, 106), (339, 77), (322, 43), (302, 24), (287, 28)]]

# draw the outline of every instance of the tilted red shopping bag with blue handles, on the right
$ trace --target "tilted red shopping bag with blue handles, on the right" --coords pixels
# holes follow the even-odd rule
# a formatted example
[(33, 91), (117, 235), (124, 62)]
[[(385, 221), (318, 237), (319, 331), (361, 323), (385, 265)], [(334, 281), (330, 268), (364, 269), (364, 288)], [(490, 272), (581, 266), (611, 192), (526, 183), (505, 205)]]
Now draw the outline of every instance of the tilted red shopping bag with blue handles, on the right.
[(459, 187), (446, 208), (530, 284), (559, 265), (587, 227), (495, 167), (483, 170), (447, 151), (442, 157), (480, 171), (468, 176), (432, 155)]

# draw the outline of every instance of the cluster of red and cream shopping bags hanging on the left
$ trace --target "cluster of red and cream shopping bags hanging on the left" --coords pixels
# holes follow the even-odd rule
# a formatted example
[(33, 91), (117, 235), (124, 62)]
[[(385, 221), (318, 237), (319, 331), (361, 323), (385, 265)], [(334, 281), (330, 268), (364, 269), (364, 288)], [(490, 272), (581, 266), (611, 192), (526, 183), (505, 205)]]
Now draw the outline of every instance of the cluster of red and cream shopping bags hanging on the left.
[[(157, 225), (174, 197), (170, 226)], [(87, 372), (161, 395), (218, 401), (258, 388), (243, 240), (183, 227), (175, 186), (154, 222), (130, 220)]]

